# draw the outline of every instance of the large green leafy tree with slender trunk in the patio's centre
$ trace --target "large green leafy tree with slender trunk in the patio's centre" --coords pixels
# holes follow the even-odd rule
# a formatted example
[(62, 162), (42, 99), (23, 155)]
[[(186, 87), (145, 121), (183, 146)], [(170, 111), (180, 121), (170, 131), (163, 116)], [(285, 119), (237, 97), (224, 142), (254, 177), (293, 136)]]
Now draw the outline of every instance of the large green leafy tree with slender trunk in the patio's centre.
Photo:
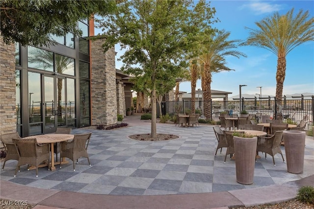
[[(151, 136), (156, 138), (156, 91), (159, 75), (174, 77), (186, 68), (187, 54), (197, 35), (211, 31), (215, 13), (205, 0), (130, 0), (117, 5), (115, 14), (100, 20), (104, 28), (105, 51), (116, 43), (126, 49), (121, 70), (134, 76), (145, 75), (152, 91)], [(167, 67), (165, 67), (167, 66)]]

